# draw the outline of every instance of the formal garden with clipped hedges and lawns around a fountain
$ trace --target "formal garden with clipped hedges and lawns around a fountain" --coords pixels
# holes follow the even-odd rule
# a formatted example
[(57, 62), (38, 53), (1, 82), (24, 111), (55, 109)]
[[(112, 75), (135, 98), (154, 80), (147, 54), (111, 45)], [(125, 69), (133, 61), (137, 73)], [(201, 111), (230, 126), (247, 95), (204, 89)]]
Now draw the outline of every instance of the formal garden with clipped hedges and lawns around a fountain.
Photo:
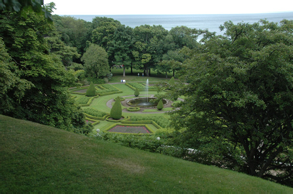
[[(168, 82), (172, 83), (173, 80), (172, 77)], [(152, 135), (168, 126), (169, 116), (165, 113), (184, 100), (184, 97), (161, 99), (168, 91), (168, 82), (164, 83), (166, 86), (159, 82), (148, 82), (148, 79), (146, 82), (91, 83), (71, 88), (70, 93), (82, 107), (86, 123), (94, 126), (92, 133), (98, 129), (101, 132)], [(116, 112), (118, 116), (113, 116)]]

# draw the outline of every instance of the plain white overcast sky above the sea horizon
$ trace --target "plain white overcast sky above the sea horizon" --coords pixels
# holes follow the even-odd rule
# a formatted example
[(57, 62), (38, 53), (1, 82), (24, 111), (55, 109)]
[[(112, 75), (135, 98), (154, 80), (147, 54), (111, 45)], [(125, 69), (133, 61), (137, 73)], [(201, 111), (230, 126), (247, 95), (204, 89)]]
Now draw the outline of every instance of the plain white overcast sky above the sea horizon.
[(293, 0), (44, 0), (58, 15), (250, 14), (293, 11)]

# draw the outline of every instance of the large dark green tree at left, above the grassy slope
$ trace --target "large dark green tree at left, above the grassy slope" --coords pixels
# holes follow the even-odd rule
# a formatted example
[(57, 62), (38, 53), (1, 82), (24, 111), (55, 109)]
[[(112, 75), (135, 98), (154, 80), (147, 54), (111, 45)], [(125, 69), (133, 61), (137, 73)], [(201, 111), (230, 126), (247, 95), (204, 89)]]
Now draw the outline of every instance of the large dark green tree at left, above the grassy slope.
[(10, 104), (8, 108), (1, 106), (0, 112), (65, 130), (84, 127), (83, 113), (68, 92), (74, 76), (65, 70), (58, 56), (50, 54), (44, 38), (53, 30), (53, 24), (33, 11), (24, 12), (25, 17), (0, 12), (0, 36), (13, 61), (11, 64), (7, 56), (1, 61), (1, 72), (6, 76), (1, 82), (10, 84), (1, 96)]

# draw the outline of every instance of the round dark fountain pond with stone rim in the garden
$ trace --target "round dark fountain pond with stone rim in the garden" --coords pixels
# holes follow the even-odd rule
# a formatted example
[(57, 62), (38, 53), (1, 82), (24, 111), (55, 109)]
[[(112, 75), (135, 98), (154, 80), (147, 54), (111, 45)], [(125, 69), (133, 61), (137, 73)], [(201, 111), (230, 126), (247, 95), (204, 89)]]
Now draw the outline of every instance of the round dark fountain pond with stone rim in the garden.
[[(137, 97), (127, 101), (129, 106), (140, 107), (140, 108), (155, 108), (159, 101), (156, 97)], [(168, 103), (167, 100), (162, 99), (164, 106)]]

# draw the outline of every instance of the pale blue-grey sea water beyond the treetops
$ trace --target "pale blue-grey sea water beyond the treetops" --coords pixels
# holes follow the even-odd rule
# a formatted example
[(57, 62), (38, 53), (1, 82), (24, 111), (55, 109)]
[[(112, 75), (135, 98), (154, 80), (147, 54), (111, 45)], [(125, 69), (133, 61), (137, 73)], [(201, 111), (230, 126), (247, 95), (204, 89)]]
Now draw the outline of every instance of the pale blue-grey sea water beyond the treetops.
[(208, 29), (210, 32), (223, 34), (219, 26), (225, 21), (231, 20), (234, 24), (244, 21), (254, 23), (260, 19), (280, 22), (282, 19), (293, 19), (293, 12), (265, 13), (265, 14), (221, 14), (221, 15), (70, 15), (77, 19), (92, 21), (95, 17), (107, 17), (120, 21), (122, 24), (135, 28), (136, 26), (162, 25), (170, 30), (176, 26), (188, 28)]

